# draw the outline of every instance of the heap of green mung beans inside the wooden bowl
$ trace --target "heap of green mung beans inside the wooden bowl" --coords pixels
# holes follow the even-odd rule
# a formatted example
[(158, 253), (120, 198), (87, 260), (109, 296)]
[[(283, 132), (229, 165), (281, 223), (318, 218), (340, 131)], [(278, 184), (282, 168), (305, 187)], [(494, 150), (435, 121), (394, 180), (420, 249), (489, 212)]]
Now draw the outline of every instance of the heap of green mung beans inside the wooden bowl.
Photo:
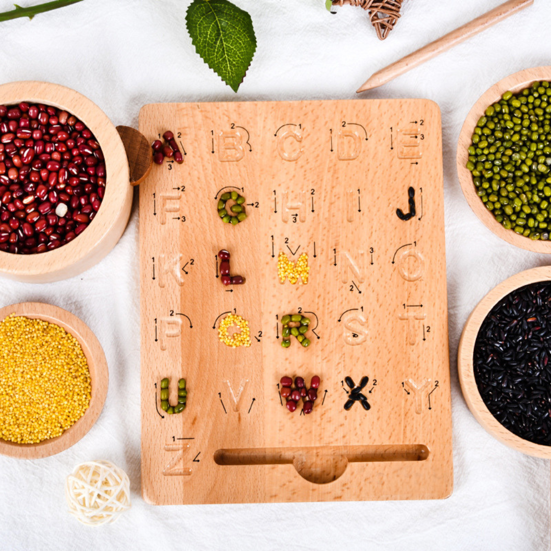
[(477, 195), (506, 229), (548, 240), (551, 86), (534, 82), (489, 105), (474, 129), (467, 169)]

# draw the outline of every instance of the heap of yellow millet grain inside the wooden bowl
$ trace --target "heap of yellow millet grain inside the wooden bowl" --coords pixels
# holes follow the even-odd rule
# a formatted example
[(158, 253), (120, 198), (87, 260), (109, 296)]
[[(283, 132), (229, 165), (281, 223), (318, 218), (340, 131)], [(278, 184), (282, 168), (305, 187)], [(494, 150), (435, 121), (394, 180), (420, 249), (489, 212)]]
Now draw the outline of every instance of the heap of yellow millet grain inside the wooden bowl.
[(90, 397), (77, 339), (47, 321), (12, 314), (0, 322), (0, 438), (34, 444), (60, 436)]

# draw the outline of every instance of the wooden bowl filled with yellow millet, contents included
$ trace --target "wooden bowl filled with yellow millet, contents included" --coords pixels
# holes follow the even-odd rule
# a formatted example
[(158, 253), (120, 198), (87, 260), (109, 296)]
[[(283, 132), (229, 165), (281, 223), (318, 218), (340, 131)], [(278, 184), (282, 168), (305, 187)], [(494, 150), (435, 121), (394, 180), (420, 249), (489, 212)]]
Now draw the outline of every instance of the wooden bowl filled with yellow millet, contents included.
[(107, 395), (101, 345), (71, 312), (42, 302), (0, 309), (0, 453), (55, 455), (88, 433)]

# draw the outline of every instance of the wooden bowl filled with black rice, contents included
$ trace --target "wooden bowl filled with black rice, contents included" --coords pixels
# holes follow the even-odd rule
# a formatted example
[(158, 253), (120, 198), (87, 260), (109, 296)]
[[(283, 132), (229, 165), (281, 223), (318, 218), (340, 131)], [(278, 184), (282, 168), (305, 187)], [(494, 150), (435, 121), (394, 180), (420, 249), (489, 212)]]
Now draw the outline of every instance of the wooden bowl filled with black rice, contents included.
[(498, 440), (551, 459), (551, 267), (492, 289), (469, 316), (457, 370), (467, 406)]

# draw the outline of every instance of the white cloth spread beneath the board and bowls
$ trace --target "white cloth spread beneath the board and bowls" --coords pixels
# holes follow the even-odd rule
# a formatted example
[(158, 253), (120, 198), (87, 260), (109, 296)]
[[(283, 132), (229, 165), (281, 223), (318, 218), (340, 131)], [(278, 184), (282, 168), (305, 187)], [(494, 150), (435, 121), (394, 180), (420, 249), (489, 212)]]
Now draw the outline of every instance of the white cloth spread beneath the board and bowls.
[[(85, 0), (0, 23), (0, 82), (48, 80), (96, 102), (115, 124), (137, 126), (161, 101), (355, 98), (377, 69), (497, 6), (501, 0), (406, 0), (384, 42), (366, 15), (324, 0), (234, 0), (251, 13), (256, 56), (238, 94), (195, 53), (189, 0)], [(30, 0), (21, 0), (28, 5)], [(10, 9), (0, 0), (0, 10)], [(506, 277), (549, 263), (506, 244), (471, 212), (455, 152), (468, 110), (497, 80), (549, 64), (551, 2), (500, 23), (378, 90), (371, 98), (429, 98), (442, 110), (450, 307), (455, 490), (444, 501), (154, 507), (140, 495), (138, 212), (115, 249), (79, 277), (47, 285), (2, 280), (0, 305), (39, 300), (82, 318), (109, 361), (105, 408), (71, 449), (37, 461), (0, 457), (0, 549), (392, 549), (549, 548), (549, 461), (521, 455), (473, 418), (457, 380), (463, 323)], [(125, 469), (132, 509), (114, 525), (67, 514), (64, 478), (96, 458)]]

